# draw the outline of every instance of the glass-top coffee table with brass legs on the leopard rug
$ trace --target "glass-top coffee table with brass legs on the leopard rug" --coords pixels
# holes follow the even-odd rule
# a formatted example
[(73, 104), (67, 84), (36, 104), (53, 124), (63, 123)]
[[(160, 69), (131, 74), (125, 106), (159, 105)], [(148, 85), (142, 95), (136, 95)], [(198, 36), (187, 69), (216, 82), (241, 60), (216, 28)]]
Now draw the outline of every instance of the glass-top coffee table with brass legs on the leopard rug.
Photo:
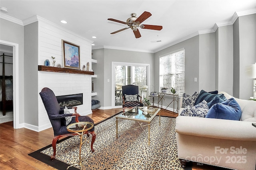
[[(148, 126), (148, 146), (150, 146), (150, 123), (154, 119), (154, 117), (159, 113), (159, 126), (161, 124), (160, 119), (160, 110), (159, 108), (150, 108), (148, 110), (143, 110), (143, 107), (134, 107), (128, 111), (122, 112), (118, 115), (116, 115), (116, 139), (118, 138), (118, 133), (122, 133), (125, 131), (129, 131), (132, 129), (138, 129), (138, 127), (134, 127), (132, 129), (124, 130), (118, 132), (118, 119), (128, 119), (128, 120), (134, 120), (138, 121), (139, 127), (143, 129), (144, 126)], [(140, 122), (146, 122), (146, 125), (142, 125)], [(158, 123), (158, 122), (156, 122)], [(144, 129), (143, 129), (144, 131)], [(145, 132), (145, 131), (144, 131)], [(146, 132), (145, 132), (146, 133)]]

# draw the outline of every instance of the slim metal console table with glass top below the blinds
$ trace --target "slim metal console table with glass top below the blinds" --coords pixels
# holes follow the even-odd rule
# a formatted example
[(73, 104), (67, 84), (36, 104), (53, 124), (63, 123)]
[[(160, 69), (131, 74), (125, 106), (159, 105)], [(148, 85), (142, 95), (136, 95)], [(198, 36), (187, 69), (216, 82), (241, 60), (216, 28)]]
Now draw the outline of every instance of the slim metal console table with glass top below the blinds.
[[(170, 98), (170, 102), (166, 102), (165, 98)], [(163, 101), (167, 105), (163, 108)], [(177, 109), (175, 109), (175, 102), (177, 102)], [(179, 113), (179, 95), (178, 94), (168, 94), (168, 93), (158, 93), (158, 107), (161, 104), (161, 109), (167, 109), (171, 104), (173, 104), (173, 112), (174, 114)]]

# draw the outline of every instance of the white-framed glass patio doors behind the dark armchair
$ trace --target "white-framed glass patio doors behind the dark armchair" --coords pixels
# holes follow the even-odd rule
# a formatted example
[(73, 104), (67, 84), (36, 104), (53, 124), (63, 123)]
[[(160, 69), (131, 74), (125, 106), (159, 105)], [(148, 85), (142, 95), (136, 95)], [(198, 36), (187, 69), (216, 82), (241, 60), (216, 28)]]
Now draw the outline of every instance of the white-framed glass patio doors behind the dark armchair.
[(142, 90), (149, 84), (149, 64), (112, 62), (112, 108), (122, 107), (122, 86), (133, 84), (139, 87), (140, 96), (148, 97)]

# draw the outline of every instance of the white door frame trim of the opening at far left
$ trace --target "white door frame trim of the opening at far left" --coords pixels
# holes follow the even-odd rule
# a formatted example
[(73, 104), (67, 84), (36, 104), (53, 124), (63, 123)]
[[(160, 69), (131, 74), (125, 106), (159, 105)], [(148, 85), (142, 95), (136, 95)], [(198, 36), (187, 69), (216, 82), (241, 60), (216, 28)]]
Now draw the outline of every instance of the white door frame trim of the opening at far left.
[(19, 45), (17, 43), (12, 43), (4, 40), (0, 40), (0, 45), (10, 46), (9, 48), (12, 49), (12, 88), (13, 88), (13, 127), (14, 129), (21, 128), (22, 125), (19, 123), (19, 64), (18, 64), (18, 51)]

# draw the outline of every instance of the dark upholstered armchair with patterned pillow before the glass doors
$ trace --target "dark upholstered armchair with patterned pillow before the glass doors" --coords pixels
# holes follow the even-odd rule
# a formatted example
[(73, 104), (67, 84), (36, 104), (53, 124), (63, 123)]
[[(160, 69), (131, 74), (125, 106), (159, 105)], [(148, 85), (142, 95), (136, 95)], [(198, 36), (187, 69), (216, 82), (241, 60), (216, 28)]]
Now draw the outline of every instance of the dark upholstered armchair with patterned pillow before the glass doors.
[(141, 97), (139, 95), (139, 87), (129, 84), (122, 86), (122, 97), (123, 97), (123, 112), (125, 108), (140, 106), (143, 104), (141, 102)]

